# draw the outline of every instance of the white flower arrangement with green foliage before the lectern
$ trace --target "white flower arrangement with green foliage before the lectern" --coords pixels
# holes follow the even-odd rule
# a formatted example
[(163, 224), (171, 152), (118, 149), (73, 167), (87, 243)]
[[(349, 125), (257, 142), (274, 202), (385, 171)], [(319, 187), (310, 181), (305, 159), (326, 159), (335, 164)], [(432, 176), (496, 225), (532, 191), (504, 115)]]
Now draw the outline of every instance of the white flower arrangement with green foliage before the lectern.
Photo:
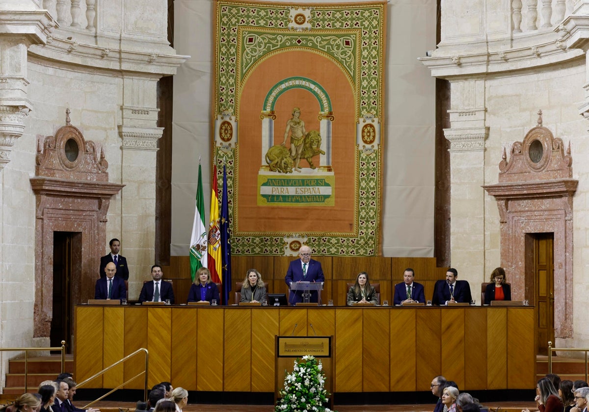
[[(314, 356), (303, 356), (300, 363), (294, 361), (293, 371), (284, 377), (282, 398), (274, 408), (275, 412), (332, 412), (323, 406), (330, 394), (324, 388), (325, 376), (321, 361)], [(335, 412), (335, 411), (334, 411)]]

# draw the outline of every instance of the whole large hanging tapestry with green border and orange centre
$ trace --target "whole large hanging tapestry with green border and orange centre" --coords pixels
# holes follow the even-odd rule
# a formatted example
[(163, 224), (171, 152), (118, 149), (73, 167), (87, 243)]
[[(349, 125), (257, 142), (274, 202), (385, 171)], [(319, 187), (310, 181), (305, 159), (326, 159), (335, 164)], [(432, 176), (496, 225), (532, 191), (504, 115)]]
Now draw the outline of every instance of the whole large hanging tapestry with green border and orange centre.
[(215, 2), (213, 155), (232, 254), (380, 254), (385, 11)]

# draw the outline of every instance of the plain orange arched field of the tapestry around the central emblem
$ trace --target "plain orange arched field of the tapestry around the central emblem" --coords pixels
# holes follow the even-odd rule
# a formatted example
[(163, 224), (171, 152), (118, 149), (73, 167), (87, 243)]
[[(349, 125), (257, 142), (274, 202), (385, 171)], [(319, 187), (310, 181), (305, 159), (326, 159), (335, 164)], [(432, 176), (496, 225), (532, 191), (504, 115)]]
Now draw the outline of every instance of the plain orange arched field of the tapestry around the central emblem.
[[(259, 206), (257, 205), (257, 175), (262, 163), (262, 122), (260, 112), (270, 89), (282, 79), (302, 76), (319, 83), (329, 95), (333, 115), (332, 167), (335, 174), (335, 205)], [(245, 79), (239, 96), (237, 145), (236, 205), (234, 205), (234, 234), (247, 233), (316, 233), (355, 234), (356, 198), (356, 97), (354, 85), (339, 65), (316, 51), (282, 49), (260, 62)], [(291, 89), (281, 95), (274, 107), (274, 144), (284, 140), (286, 122), (293, 107), (299, 107), (306, 132), (319, 131), (319, 103), (303, 89)], [(325, 137), (322, 137), (325, 138)], [(290, 138), (286, 147), (290, 147)], [(319, 155), (313, 158), (319, 165)], [(301, 167), (309, 167), (306, 160)], [(294, 178), (298, 172), (288, 174)]]

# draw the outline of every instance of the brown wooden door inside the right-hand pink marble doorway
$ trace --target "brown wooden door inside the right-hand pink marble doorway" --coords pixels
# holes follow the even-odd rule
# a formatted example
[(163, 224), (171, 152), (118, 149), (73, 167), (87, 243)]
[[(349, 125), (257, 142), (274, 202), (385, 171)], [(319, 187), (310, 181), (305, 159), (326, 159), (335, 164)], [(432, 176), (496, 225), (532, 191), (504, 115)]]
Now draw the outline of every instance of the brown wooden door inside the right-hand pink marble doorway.
[(554, 343), (554, 242), (553, 233), (534, 235), (535, 307), (538, 322), (538, 354), (548, 354)]

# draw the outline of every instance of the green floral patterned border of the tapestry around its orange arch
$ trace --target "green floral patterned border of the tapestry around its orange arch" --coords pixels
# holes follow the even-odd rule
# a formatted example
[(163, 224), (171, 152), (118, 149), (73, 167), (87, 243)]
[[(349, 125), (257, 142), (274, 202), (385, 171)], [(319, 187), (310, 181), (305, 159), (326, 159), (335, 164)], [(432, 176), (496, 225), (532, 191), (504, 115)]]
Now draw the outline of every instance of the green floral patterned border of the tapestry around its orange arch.
[[(288, 255), (304, 243), (315, 255), (379, 255), (386, 2), (277, 4), (217, 0), (215, 19), (213, 155), (219, 182), (223, 181), (223, 165), (227, 167), (231, 253)], [(356, 88), (359, 127), (352, 234), (239, 232), (233, 224), (234, 206), (239, 199), (236, 177), (240, 85), (264, 57), (284, 47), (328, 55)]]

